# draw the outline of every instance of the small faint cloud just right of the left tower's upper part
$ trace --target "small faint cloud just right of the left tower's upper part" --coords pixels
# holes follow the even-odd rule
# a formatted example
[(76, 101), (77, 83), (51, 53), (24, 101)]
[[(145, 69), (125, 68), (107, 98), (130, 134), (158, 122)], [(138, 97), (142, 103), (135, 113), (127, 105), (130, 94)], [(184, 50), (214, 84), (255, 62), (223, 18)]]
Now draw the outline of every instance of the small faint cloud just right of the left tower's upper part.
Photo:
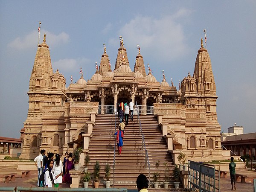
[(60, 69), (64, 72), (75, 72), (79, 71), (81, 66), (87, 66), (88, 64), (90, 64), (90, 59), (87, 58), (65, 58), (58, 61), (53, 61), (52, 67), (54, 69)]

